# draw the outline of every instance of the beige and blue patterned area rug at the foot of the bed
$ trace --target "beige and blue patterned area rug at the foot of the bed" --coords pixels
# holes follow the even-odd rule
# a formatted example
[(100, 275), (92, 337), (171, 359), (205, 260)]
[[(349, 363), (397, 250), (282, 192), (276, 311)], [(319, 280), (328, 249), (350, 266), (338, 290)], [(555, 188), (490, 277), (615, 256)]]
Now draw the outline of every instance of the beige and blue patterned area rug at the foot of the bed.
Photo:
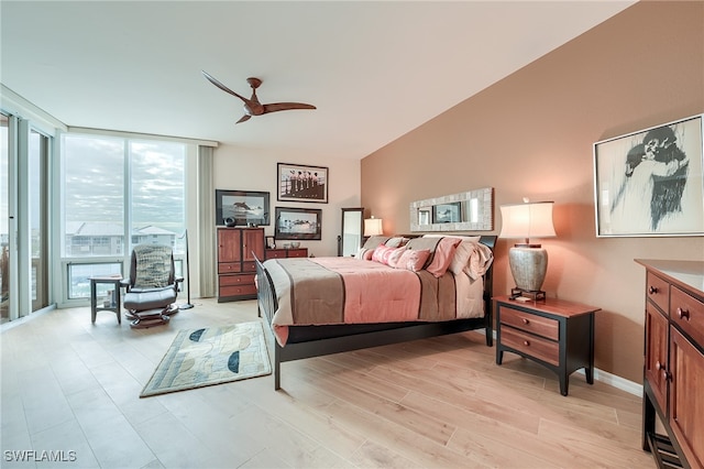
[(140, 397), (271, 373), (262, 323), (180, 330)]

